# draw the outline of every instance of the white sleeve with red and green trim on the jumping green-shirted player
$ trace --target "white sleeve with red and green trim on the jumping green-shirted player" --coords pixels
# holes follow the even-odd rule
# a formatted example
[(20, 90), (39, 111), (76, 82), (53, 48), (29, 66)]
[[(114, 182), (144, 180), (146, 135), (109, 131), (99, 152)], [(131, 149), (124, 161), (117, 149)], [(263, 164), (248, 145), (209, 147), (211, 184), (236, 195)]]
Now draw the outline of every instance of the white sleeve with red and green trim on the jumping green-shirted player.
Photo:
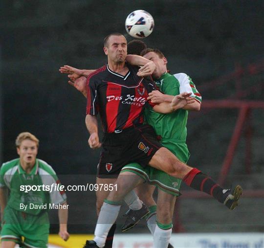
[(174, 74), (174, 76), (176, 77), (176, 79), (179, 81), (180, 84), (179, 92), (180, 93), (191, 92), (192, 93), (191, 97), (194, 97), (199, 103), (201, 103), (202, 100), (201, 94), (196, 89), (192, 79), (185, 73), (177, 73)]

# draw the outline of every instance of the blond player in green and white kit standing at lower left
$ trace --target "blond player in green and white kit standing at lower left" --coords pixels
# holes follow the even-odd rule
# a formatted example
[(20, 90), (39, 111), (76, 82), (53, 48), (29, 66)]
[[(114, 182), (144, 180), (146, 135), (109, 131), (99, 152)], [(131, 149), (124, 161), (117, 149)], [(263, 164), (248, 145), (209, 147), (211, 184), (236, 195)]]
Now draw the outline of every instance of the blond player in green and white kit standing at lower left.
[(1, 248), (14, 248), (16, 244), (22, 248), (47, 248), (47, 212), (52, 208), (59, 209), (59, 235), (66, 241), (66, 194), (55, 190), (60, 181), (52, 167), (36, 158), (38, 138), (21, 133), (16, 147), (19, 158), (3, 163), (0, 169)]

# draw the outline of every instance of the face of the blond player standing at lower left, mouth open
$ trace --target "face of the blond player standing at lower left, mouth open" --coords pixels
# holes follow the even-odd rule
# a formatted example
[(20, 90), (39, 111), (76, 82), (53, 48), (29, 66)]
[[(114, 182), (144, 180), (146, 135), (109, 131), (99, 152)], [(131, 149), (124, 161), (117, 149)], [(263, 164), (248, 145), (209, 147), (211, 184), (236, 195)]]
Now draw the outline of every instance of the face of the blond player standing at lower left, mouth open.
[(21, 142), (20, 147), (17, 148), (17, 152), (21, 163), (33, 165), (38, 154), (37, 143), (33, 140), (25, 139)]

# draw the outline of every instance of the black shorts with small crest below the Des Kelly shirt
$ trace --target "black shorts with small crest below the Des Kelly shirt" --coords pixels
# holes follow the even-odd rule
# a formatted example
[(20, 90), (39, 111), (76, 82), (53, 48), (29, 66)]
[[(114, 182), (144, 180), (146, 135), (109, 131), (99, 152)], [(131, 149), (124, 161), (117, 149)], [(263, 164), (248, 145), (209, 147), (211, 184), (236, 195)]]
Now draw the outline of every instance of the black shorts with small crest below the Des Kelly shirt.
[(117, 178), (121, 169), (131, 162), (145, 167), (162, 147), (152, 126), (145, 124), (105, 134), (97, 168), (98, 178)]

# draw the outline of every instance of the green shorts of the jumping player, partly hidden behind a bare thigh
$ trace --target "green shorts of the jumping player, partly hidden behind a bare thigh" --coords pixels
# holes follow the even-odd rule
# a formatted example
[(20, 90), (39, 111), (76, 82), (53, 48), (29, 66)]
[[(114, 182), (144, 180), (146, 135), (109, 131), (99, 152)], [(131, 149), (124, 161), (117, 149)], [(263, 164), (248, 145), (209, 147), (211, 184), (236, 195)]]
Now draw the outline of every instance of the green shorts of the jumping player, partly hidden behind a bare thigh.
[[(183, 142), (174, 142), (173, 140), (162, 140), (161, 144), (169, 149), (180, 161), (187, 163), (190, 153), (188, 147)], [(157, 186), (160, 190), (178, 196), (181, 180), (174, 178), (167, 173), (157, 170), (151, 166), (142, 167), (138, 163), (130, 163), (123, 167), (122, 172), (132, 172), (143, 178), (149, 184)]]

